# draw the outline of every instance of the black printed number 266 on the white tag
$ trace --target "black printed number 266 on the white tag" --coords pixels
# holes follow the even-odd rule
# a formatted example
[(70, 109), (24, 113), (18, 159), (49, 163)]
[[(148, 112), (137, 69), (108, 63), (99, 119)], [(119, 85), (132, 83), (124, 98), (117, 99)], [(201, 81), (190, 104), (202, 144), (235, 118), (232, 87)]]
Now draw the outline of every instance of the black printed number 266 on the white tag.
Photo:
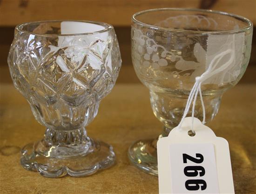
[[(190, 160), (194, 163), (200, 164), (203, 162), (203, 155), (202, 154), (195, 154), (195, 158), (187, 155), (183, 155), (183, 163), (187, 163), (187, 160)], [(205, 169), (202, 166), (186, 166), (184, 168), (184, 174), (188, 177), (194, 177), (194, 176), (203, 176), (205, 175)], [(205, 190), (207, 187), (207, 184), (202, 179), (190, 179), (185, 182), (185, 187), (189, 191), (196, 191), (201, 188), (201, 190)]]

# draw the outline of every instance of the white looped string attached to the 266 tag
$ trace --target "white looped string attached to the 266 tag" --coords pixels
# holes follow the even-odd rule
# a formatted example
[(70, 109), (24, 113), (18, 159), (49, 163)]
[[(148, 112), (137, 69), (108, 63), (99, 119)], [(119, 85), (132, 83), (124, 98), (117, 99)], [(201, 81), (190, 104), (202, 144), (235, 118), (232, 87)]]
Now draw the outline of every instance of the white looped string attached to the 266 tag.
[[(233, 40), (234, 40), (234, 37), (233, 37)], [(193, 102), (192, 116), (191, 117), (192, 117), (192, 131), (194, 132), (193, 124), (194, 124), (194, 115), (195, 115), (195, 103), (196, 103), (196, 98), (198, 96), (198, 92), (199, 92), (200, 99), (201, 99), (201, 104), (202, 104), (202, 112), (203, 112), (202, 124), (205, 124), (205, 106), (204, 106), (203, 98), (202, 98), (201, 85), (202, 85), (202, 82), (205, 81), (207, 78), (212, 77), (213, 75), (215, 75), (215, 74), (225, 70), (227, 67), (229, 67), (229, 65), (233, 64), (233, 61), (235, 59), (235, 44), (234, 44), (234, 41), (231, 44), (233, 44), (233, 46), (232, 46), (233, 49), (227, 49), (226, 51), (216, 55), (211, 60), (211, 62), (209, 64), (209, 68), (204, 73), (202, 73), (201, 76), (198, 76), (198, 77), (195, 78), (195, 84), (194, 84), (192, 90), (189, 93), (189, 98), (188, 98), (188, 101), (187, 101), (187, 104), (186, 104), (186, 107), (185, 107), (185, 110), (184, 110), (181, 122), (179, 123), (179, 125), (177, 127), (178, 129), (181, 128), (182, 123), (183, 123), (185, 117), (189, 113), (189, 109), (190, 109), (191, 103)], [(221, 61), (221, 59), (225, 55), (228, 55), (228, 54), (231, 55), (229, 60), (226, 63), (224, 63), (223, 65), (218, 65), (219, 62)]]

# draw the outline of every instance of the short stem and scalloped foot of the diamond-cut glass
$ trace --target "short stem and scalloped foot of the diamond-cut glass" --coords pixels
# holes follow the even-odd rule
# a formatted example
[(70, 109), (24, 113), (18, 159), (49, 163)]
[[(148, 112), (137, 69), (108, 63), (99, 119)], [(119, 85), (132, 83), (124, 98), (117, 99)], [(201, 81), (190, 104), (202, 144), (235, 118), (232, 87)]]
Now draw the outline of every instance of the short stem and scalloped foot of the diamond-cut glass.
[(41, 141), (26, 145), (21, 153), (25, 169), (47, 177), (91, 175), (115, 162), (112, 146), (88, 137), (85, 128), (46, 129)]

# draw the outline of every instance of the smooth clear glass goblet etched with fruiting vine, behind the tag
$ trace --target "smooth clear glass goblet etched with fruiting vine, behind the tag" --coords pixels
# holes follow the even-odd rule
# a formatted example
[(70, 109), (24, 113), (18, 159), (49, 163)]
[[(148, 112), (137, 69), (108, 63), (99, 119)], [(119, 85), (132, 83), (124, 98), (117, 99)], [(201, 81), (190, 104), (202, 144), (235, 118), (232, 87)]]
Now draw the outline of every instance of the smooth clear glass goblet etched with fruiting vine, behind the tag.
[[(131, 35), (135, 72), (149, 89), (153, 112), (164, 127), (157, 138), (131, 145), (128, 156), (136, 167), (157, 175), (156, 142), (180, 123), (195, 77), (215, 56), (232, 51), (217, 67), (221, 69), (231, 55), (232, 64), (202, 82), (206, 123), (216, 116), (223, 92), (242, 78), (249, 63), (252, 23), (211, 10), (161, 8), (135, 13)], [(195, 117), (202, 120), (202, 116), (198, 97)]]

